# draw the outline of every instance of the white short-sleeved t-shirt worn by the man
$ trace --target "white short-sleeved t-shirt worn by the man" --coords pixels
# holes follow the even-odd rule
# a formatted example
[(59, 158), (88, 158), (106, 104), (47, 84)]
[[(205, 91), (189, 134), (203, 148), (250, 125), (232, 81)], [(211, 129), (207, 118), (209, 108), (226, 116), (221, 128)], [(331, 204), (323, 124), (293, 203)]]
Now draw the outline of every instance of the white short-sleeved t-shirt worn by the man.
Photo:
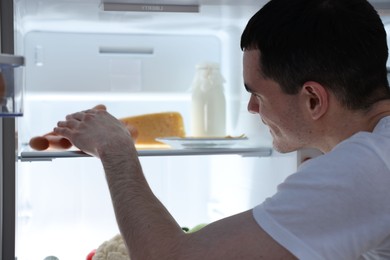
[(302, 260), (390, 259), (390, 116), (303, 163), (253, 215)]

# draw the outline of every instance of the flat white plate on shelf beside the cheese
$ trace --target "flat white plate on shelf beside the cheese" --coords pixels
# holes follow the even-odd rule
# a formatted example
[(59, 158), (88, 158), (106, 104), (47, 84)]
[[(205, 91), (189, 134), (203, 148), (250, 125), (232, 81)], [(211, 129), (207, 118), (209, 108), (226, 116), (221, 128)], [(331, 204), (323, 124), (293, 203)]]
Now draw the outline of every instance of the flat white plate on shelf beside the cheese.
[(248, 140), (247, 137), (161, 137), (157, 141), (165, 143), (174, 149), (200, 149), (200, 148), (229, 148), (242, 141)]

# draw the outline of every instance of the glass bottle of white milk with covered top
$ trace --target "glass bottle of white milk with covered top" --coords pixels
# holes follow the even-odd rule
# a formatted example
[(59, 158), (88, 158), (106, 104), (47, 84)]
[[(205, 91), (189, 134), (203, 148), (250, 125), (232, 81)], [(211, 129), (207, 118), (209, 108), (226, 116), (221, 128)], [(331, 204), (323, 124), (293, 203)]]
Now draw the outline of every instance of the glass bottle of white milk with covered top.
[(192, 136), (226, 135), (226, 101), (224, 79), (217, 63), (196, 66), (192, 83)]

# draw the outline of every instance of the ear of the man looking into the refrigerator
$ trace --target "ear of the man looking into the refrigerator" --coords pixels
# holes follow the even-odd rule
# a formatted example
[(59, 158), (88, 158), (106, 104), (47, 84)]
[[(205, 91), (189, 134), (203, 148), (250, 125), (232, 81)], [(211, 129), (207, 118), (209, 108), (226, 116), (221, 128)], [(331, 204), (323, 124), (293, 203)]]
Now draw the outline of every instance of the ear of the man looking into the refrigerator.
[(315, 81), (307, 81), (303, 84), (301, 94), (312, 119), (317, 120), (328, 111), (329, 93), (323, 85)]

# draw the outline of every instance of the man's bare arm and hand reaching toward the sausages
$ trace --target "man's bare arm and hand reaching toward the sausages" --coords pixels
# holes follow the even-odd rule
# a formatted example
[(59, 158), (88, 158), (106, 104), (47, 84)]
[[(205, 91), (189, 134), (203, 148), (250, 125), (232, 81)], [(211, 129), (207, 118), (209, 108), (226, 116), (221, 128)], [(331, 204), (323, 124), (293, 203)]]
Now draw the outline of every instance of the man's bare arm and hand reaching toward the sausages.
[(69, 115), (55, 132), (101, 159), (131, 259), (295, 259), (257, 225), (251, 211), (184, 233), (151, 191), (130, 133), (106, 111)]

